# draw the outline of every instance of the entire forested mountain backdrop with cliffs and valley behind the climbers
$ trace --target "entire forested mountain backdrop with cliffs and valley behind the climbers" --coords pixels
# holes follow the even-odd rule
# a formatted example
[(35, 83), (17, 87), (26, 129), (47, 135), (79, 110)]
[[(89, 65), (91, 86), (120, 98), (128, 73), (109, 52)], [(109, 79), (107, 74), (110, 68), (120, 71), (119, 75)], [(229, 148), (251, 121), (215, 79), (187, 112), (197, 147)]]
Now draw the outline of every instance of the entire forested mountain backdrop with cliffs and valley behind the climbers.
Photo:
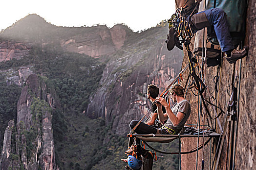
[[(128, 123), (151, 105), (147, 85), (163, 91), (180, 71), (183, 53), (167, 51), (167, 33), (165, 21), (134, 33), (59, 27), (36, 14), (0, 32), (0, 168), (124, 168)], [(154, 169), (177, 160), (160, 156)]]

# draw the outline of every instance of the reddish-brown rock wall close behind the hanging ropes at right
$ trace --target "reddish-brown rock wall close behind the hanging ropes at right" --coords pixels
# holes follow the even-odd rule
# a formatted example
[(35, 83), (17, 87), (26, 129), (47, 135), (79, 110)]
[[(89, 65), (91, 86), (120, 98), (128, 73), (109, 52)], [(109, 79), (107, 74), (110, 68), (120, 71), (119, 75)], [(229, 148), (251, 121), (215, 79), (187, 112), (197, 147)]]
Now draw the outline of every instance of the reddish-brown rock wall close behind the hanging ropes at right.
[[(235, 169), (236, 170), (254, 170), (256, 166), (256, 43), (253, 41), (256, 38), (256, 0), (249, 0), (248, 10), (247, 10), (247, 20), (246, 20), (246, 38), (245, 45), (249, 46), (249, 54), (246, 58), (238, 60), (235, 64), (229, 64), (226, 59), (223, 60), (222, 69), (219, 72), (219, 106), (226, 112), (227, 102), (230, 99), (230, 94), (232, 92), (232, 74), (233, 71), (237, 71), (237, 78), (239, 83), (239, 78), (241, 78), (240, 85), (240, 97), (239, 97), (239, 117), (237, 118), (238, 129), (237, 129), (237, 140), (236, 140), (236, 152), (235, 152)], [(185, 54), (186, 55), (186, 54)], [(184, 58), (182, 67), (188, 63), (188, 60)], [(241, 66), (241, 77), (240, 75), (240, 66)], [(208, 86), (210, 92), (214, 92), (214, 82), (213, 77), (217, 73), (217, 67), (214, 68), (205, 68), (204, 78), (205, 84)], [(185, 73), (185, 79), (188, 75), (188, 72)], [(183, 82), (182, 85), (185, 85)], [(230, 86), (229, 86), (230, 85)], [(237, 84), (238, 86), (238, 84)], [(214, 95), (213, 95), (214, 97)], [(188, 123), (197, 123), (197, 113), (198, 113), (198, 97), (195, 97), (191, 92), (189, 92), (187, 99), (192, 103), (192, 114), (188, 119)], [(210, 107), (210, 106), (209, 106)], [(211, 109), (210, 109), (211, 110)], [(205, 110), (203, 110), (205, 113)], [(211, 115), (214, 117), (213, 110), (211, 110)], [(220, 123), (223, 128), (224, 114), (220, 116)], [(206, 120), (205, 120), (206, 123)], [(216, 132), (220, 133), (220, 128), (218, 123), (212, 121), (213, 126), (216, 123)], [(203, 124), (203, 117), (201, 117), (200, 124)], [(224, 140), (224, 145), (220, 157), (220, 162), (218, 165), (219, 170), (226, 169), (228, 165), (228, 145), (231, 143), (230, 134), (231, 134), (232, 122), (228, 121), (226, 138)], [(201, 127), (202, 128), (202, 127)], [(206, 141), (207, 139), (205, 139)], [(200, 139), (199, 144), (203, 142)], [(190, 151), (192, 148), (197, 146), (197, 138), (183, 138), (182, 139), (182, 151)], [(210, 166), (210, 157), (211, 153), (210, 144), (206, 145), (204, 148), (204, 155), (202, 150), (198, 153), (198, 169), (201, 169), (202, 159), (205, 160), (204, 168), (208, 169)], [(214, 156), (214, 155), (213, 155)], [(212, 157), (213, 158), (213, 157)], [(191, 153), (187, 155), (182, 155), (182, 169), (195, 169), (196, 164), (196, 153)], [(212, 164), (211, 164), (212, 165)]]

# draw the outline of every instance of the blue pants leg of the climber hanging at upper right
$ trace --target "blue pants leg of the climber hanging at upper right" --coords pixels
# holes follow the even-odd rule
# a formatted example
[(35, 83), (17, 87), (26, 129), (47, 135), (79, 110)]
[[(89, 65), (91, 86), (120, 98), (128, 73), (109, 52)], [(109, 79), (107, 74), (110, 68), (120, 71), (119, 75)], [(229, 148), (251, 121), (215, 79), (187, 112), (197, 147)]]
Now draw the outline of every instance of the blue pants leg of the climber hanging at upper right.
[[(234, 49), (226, 13), (219, 8), (208, 9), (200, 13), (205, 13), (208, 21), (214, 27), (221, 51), (225, 52)], [(208, 27), (208, 29), (211, 29), (211, 27)], [(198, 30), (193, 31), (197, 32)]]

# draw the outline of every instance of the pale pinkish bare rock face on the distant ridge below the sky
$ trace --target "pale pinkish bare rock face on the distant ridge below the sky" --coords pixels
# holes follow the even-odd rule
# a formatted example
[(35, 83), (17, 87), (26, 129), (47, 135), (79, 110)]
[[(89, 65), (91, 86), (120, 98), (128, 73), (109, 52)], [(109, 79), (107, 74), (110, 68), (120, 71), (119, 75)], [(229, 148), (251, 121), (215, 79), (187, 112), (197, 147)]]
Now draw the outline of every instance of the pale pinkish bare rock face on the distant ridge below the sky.
[(131, 33), (126, 26), (121, 24), (115, 25), (111, 29), (106, 26), (98, 26), (95, 30), (93, 32), (87, 31), (65, 40), (62, 39), (61, 46), (66, 51), (99, 57), (120, 50)]

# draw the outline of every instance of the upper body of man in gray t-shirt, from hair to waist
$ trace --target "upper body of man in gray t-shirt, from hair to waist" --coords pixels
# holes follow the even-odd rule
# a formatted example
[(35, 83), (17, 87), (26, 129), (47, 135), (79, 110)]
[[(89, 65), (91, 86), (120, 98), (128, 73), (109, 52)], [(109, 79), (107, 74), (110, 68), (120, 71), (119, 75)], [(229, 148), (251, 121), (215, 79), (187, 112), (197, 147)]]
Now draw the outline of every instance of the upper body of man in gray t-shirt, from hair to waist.
[[(160, 131), (168, 130), (170, 134), (178, 134), (182, 130), (184, 124), (190, 116), (190, 103), (184, 98), (184, 89), (179, 84), (172, 85), (170, 95), (175, 105), (170, 108), (164, 98), (157, 97), (157, 114), (160, 121), (165, 121), (165, 125), (158, 130), (157, 134), (162, 134)], [(166, 113), (163, 113), (162, 106), (165, 107)]]

